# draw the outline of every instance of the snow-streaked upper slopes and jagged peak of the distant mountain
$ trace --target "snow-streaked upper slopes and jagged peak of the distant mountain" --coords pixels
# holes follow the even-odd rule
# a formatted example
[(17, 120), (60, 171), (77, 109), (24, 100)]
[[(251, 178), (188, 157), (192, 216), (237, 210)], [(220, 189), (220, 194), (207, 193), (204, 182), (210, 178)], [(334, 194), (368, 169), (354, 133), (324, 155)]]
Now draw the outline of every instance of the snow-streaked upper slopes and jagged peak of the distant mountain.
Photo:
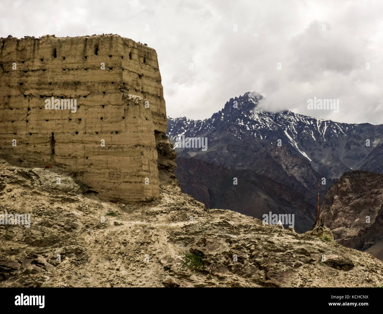
[[(181, 135), (198, 137), (228, 132), (240, 140), (257, 138), (270, 146), (277, 146), (279, 139), (282, 145), (291, 146), (306, 158), (314, 169), (319, 164), (320, 172), (331, 178), (359, 169), (383, 140), (383, 125), (339, 123), (291, 111), (267, 112), (257, 108), (262, 98), (247, 92), (230, 99), (222, 110), (205, 120), (169, 117), (167, 134), (176, 141)], [(366, 146), (366, 140), (370, 146)]]

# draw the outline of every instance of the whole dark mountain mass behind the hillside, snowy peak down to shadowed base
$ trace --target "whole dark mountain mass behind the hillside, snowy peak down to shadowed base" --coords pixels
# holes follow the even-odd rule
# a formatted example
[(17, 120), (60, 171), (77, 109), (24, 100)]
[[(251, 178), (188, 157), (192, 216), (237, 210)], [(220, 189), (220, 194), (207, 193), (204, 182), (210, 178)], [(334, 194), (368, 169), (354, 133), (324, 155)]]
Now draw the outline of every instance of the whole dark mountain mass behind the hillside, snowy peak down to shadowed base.
[[(211, 208), (223, 207), (261, 218), (265, 194), (276, 195), (270, 203), (281, 204), (281, 191), (294, 190), (298, 205), (277, 205), (274, 211), (301, 217), (298, 225), (304, 227), (297, 231), (305, 232), (312, 228), (316, 215), (318, 177), (326, 178), (326, 184), (321, 185), (325, 195), (345, 171), (366, 169), (383, 173), (377, 158), (383, 147), (383, 125), (338, 123), (290, 111), (267, 112), (259, 109), (262, 98), (247, 92), (230, 99), (222, 110), (205, 120), (168, 118), (167, 135), (173, 143), (182, 135), (207, 138), (206, 151), (177, 148), (178, 158), (183, 159), (176, 161), (175, 173), (182, 189), (198, 201)], [(282, 146), (277, 145), (278, 140)], [(366, 140), (370, 140), (370, 146), (366, 146)], [(246, 182), (246, 188), (231, 186), (231, 197), (223, 202), (219, 196), (228, 193), (230, 182), (225, 181), (219, 189), (217, 179), (224, 180), (220, 172), (206, 173), (201, 180), (200, 170), (195, 168), (200, 161), (222, 167), (238, 182)], [(263, 191), (259, 179), (253, 179), (257, 174), (274, 181), (275, 188)], [(200, 190), (190, 188), (198, 185)], [(282, 203), (289, 204), (289, 198), (283, 197)], [(299, 205), (304, 203), (308, 204), (304, 208)], [(253, 205), (251, 211), (243, 204), (261, 205)]]

